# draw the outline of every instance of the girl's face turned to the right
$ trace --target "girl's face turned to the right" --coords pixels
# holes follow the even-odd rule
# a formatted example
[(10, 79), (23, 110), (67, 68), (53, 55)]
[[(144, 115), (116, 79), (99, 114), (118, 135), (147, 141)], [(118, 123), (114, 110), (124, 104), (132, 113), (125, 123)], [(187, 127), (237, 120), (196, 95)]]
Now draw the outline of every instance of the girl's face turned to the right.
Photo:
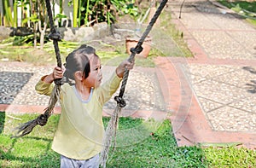
[(84, 79), (84, 85), (87, 87), (98, 87), (102, 83), (102, 64), (99, 57), (96, 55), (89, 55), (90, 60), (90, 73)]

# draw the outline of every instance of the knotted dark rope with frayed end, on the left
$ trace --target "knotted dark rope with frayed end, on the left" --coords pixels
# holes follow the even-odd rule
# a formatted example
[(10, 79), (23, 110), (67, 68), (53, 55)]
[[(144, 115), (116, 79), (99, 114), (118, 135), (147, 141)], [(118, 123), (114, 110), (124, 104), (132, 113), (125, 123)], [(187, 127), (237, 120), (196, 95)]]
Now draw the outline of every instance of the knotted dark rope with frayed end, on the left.
[[(56, 55), (56, 60), (57, 60), (57, 66), (61, 67), (61, 54), (60, 54), (60, 49), (58, 45), (58, 41), (61, 41), (61, 35), (59, 32), (55, 30), (54, 26), (54, 21), (52, 17), (52, 11), (50, 7), (50, 2), (49, 0), (45, 0), (46, 2), (46, 8), (47, 8), (47, 13), (49, 17), (49, 25), (50, 25), (50, 34), (49, 38), (53, 40), (54, 47), (55, 47), (55, 55)], [(48, 107), (45, 108), (44, 113), (39, 115), (37, 119), (32, 119), (31, 121), (28, 121), (24, 124), (20, 124), (17, 128), (15, 128), (15, 135), (12, 137), (20, 137), (20, 136), (25, 136), (29, 134), (33, 128), (37, 125), (44, 126), (46, 125), (49, 116), (53, 113), (53, 109), (55, 107), (56, 102), (58, 101), (61, 93), (61, 79), (55, 79), (55, 87), (51, 93), (51, 96), (49, 98), (49, 105)]]

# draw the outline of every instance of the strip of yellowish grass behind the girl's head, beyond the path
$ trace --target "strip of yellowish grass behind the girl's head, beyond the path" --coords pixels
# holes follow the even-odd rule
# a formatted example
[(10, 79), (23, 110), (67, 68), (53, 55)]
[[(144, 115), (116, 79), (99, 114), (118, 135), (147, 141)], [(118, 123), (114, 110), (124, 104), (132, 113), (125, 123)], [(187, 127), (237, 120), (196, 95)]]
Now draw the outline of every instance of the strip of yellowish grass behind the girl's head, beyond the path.
[[(10, 39), (9, 39), (10, 40)], [(90, 44), (90, 43), (89, 43)], [(67, 55), (77, 49), (79, 43), (59, 42), (61, 51), (61, 60), (64, 63)], [(101, 57), (102, 64), (108, 66), (118, 66), (121, 61), (129, 58), (125, 51), (125, 46), (111, 45), (96, 50), (96, 54)], [(154, 58), (160, 56), (159, 50), (151, 49), (148, 58), (136, 58), (137, 67), (154, 67)], [(44, 50), (34, 49), (31, 46), (13, 46), (11, 44), (0, 43), (0, 60), (24, 61), (34, 64), (35, 66), (55, 65), (55, 53), (52, 43), (45, 43)]]

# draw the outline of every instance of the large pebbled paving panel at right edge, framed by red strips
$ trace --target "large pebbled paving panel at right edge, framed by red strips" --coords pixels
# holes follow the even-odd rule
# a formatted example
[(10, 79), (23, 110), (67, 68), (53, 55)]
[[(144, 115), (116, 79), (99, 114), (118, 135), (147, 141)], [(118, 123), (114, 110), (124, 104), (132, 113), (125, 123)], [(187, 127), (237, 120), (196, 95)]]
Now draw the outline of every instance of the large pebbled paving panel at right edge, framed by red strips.
[(192, 79), (191, 87), (214, 130), (256, 132), (256, 97), (247, 86), (256, 74), (234, 66), (193, 64), (189, 67), (192, 67), (187, 73)]

